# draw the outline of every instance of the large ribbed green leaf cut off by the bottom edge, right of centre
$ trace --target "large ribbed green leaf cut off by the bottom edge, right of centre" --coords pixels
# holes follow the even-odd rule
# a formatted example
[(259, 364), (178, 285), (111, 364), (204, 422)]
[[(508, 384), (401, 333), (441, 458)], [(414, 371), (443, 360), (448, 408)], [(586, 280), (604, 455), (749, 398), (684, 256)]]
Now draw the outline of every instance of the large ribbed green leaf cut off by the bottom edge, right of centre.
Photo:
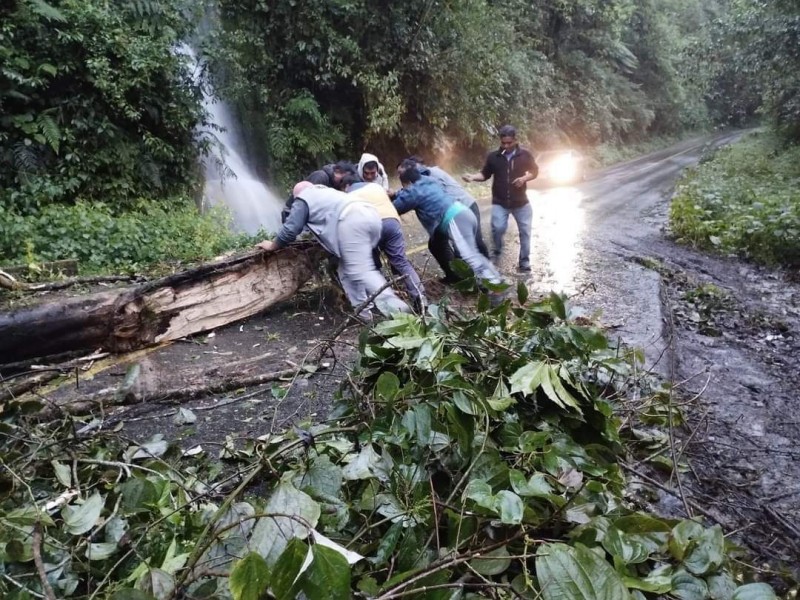
[(617, 572), (585, 546), (542, 544), (536, 576), (543, 600), (629, 600)]

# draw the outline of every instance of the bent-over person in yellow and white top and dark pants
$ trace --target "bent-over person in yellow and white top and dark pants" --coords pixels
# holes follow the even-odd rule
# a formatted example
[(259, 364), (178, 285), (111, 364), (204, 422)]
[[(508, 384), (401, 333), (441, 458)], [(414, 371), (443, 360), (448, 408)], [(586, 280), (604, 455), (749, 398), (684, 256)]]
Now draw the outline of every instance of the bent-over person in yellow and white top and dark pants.
[[(381, 217), (381, 237), (378, 240), (380, 252), (386, 255), (392, 272), (403, 278), (403, 285), (411, 298), (417, 312), (421, 312), (428, 301), (419, 275), (406, 256), (406, 240), (397, 214), (389, 195), (378, 183), (363, 182), (358, 176), (345, 175), (342, 180), (347, 193), (360, 200), (365, 200), (375, 207)], [(380, 268), (380, 252), (376, 256), (376, 266)]]

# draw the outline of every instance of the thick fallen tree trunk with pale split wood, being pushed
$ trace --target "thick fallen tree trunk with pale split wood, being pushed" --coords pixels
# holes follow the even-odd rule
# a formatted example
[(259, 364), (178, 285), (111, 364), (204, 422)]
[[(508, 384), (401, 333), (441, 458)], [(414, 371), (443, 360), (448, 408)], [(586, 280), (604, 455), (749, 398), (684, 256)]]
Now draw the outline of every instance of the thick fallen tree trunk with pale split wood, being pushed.
[(140, 285), (0, 314), (0, 365), (82, 349), (128, 352), (244, 319), (294, 295), (321, 257), (314, 243), (256, 250)]

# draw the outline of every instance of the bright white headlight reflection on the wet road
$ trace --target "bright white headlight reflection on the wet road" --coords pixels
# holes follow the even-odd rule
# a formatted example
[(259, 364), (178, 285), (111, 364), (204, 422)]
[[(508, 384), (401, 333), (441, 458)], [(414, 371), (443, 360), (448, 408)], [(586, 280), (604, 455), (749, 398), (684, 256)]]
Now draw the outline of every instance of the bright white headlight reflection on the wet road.
[(533, 207), (531, 262), (542, 270), (536, 291), (578, 291), (586, 217), (583, 193), (571, 187), (529, 190)]

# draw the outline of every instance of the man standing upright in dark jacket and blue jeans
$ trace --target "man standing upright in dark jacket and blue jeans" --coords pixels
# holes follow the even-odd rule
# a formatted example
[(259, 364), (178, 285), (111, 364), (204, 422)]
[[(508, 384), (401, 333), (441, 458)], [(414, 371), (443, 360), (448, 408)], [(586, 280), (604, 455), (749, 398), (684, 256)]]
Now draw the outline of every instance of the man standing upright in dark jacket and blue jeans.
[(464, 175), (464, 181), (492, 179), (492, 240), (494, 260), (503, 254), (503, 236), (508, 229), (508, 215), (514, 215), (519, 229), (519, 263), (522, 272), (531, 270), (531, 223), (533, 210), (528, 201), (527, 184), (536, 179), (539, 167), (533, 154), (517, 142), (517, 130), (511, 125), (500, 128), (500, 148), (486, 157), (479, 173)]

